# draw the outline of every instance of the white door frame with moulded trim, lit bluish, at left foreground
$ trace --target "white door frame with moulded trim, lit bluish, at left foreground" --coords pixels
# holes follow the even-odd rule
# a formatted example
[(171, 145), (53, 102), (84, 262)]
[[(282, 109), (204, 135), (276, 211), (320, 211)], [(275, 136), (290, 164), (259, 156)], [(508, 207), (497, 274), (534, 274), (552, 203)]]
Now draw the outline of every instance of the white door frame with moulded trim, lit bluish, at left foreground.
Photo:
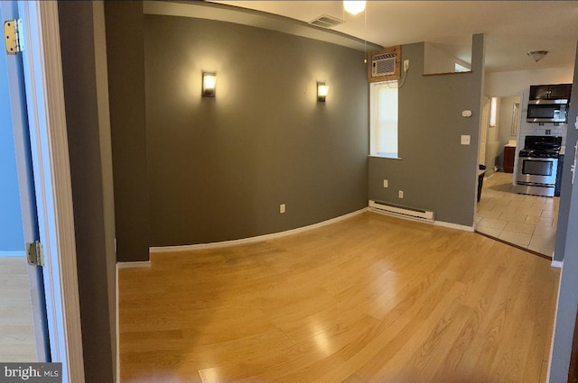
[(24, 27), (23, 71), (51, 360), (62, 362), (63, 382), (84, 383), (58, 3), (17, 5)]

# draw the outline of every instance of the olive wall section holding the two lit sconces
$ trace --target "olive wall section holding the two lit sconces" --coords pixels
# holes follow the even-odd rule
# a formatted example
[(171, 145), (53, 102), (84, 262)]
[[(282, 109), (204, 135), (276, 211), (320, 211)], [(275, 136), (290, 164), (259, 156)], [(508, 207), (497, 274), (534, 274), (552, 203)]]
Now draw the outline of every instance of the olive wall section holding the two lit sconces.
[[(159, 15), (144, 16), (144, 48), (151, 246), (277, 233), (367, 206), (363, 52)], [(215, 98), (200, 96), (202, 70), (217, 72)]]

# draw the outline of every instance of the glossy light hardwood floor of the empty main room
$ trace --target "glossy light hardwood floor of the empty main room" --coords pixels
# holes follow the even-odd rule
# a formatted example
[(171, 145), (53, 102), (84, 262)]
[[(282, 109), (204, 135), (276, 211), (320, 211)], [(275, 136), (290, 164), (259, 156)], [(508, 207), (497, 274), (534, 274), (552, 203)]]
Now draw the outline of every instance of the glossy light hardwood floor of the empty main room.
[(364, 213), (119, 278), (123, 383), (543, 383), (559, 270)]

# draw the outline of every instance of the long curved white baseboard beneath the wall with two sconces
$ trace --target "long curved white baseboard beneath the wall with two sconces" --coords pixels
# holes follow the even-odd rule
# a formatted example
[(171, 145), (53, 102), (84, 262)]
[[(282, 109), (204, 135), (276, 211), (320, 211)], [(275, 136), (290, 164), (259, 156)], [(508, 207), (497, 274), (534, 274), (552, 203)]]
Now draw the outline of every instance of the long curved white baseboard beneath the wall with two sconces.
[(309, 231), (312, 229), (317, 229), (319, 227), (326, 226), (326, 225), (331, 224), (331, 223), (338, 223), (338, 222), (346, 220), (352, 216), (362, 214), (362, 213), (365, 213), (367, 211), (368, 211), (368, 208), (365, 207), (365, 208), (360, 209), (356, 212), (341, 215), (341, 216), (336, 217), (336, 218), (331, 218), (330, 220), (323, 221), (320, 223), (313, 223), (313, 224), (310, 224), (308, 226), (303, 226), (303, 227), (300, 227), (297, 229), (287, 230), (285, 232), (259, 235), (256, 237), (243, 238), (240, 240), (199, 243), (199, 244), (195, 244), (195, 245), (151, 247), (151, 248), (149, 248), (149, 253), (150, 254), (163, 254), (163, 253), (176, 252), (176, 251), (193, 251), (193, 250), (216, 249), (216, 248), (221, 248), (221, 247), (235, 246), (235, 245), (239, 245), (239, 244), (269, 241), (269, 240), (273, 240), (275, 238), (284, 237), (286, 235), (303, 233), (303, 232), (306, 232), (306, 231)]

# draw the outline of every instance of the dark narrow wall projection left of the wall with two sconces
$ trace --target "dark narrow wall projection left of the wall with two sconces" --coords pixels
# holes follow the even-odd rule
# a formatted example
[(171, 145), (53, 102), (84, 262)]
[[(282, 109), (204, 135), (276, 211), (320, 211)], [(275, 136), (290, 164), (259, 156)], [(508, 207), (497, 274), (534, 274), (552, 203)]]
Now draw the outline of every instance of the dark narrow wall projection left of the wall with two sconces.
[(148, 260), (143, 2), (106, 1), (117, 259)]

